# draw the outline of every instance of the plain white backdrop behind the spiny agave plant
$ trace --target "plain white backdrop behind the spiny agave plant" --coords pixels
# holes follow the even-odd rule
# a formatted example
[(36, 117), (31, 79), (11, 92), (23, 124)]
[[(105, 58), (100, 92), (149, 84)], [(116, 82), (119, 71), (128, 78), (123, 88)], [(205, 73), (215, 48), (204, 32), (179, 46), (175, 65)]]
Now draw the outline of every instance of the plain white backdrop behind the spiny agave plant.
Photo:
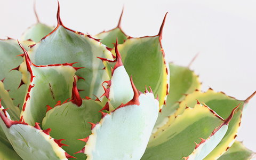
[[(63, 24), (95, 35), (117, 26), (124, 5), (122, 29), (132, 37), (154, 36), (166, 12), (163, 43), (169, 61), (190, 66), (202, 90), (211, 87), (238, 100), (256, 91), (256, 1), (64, 1)], [(0, 1), (0, 38), (18, 39), (36, 17), (33, 0)], [(56, 26), (57, 1), (36, 1), (39, 20)], [(235, 107), (235, 106), (234, 106)], [(237, 140), (256, 152), (256, 97), (243, 114)]]

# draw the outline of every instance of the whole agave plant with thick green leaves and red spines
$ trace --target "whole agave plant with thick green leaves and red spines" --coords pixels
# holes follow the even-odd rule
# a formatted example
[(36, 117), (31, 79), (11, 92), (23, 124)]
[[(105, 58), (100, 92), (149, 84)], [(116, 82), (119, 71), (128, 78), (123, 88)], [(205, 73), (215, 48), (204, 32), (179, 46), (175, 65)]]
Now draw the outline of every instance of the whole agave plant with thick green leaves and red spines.
[(121, 18), (91, 36), (65, 27), (58, 8), (55, 29), (38, 22), (0, 41), (0, 159), (252, 158), (236, 137), (255, 93), (201, 92), (165, 57), (165, 18), (140, 38)]

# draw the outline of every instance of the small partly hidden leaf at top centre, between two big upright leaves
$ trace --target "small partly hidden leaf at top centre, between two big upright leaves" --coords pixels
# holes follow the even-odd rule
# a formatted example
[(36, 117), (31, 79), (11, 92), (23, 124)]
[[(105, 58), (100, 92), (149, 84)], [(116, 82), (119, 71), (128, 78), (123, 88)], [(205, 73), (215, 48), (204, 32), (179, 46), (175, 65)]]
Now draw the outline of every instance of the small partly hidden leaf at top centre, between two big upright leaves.
[(124, 41), (128, 38), (128, 36), (125, 35), (123, 30), (121, 29), (121, 20), (122, 20), (123, 11), (121, 14), (121, 17), (119, 19), (118, 25), (116, 28), (109, 30), (109, 31), (103, 31), (102, 33), (95, 35), (93, 37), (100, 39), (100, 42), (102, 44), (105, 44), (106, 46), (110, 47), (111, 49), (114, 48), (114, 44), (116, 42), (116, 38), (119, 39), (119, 44), (123, 44)]

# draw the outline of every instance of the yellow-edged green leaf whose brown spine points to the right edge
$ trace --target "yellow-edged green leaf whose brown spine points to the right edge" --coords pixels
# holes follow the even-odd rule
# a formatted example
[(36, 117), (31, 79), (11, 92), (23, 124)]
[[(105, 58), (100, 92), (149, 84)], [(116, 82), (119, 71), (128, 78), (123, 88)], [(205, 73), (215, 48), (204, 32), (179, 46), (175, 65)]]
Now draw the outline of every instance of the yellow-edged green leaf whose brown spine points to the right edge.
[[(253, 95), (251, 95), (251, 97), (252, 96)], [(209, 89), (205, 93), (202, 93), (201, 91), (195, 91), (194, 93), (188, 94), (186, 96), (185, 100), (180, 103), (180, 107), (175, 114), (182, 114), (186, 106), (194, 106), (197, 102), (197, 99), (200, 102), (204, 102), (221, 117), (227, 118), (229, 116), (228, 113), (230, 113), (233, 107), (241, 103), (241, 105), (235, 111), (233, 119), (229, 123), (229, 128), (225, 137), (221, 140), (219, 145), (207, 157), (204, 158), (215, 159), (216, 157), (219, 157), (220, 155), (225, 153), (227, 148), (231, 147), (231, 145), (234, 143), (240, 128), (243, 108), (246, 107), (251, 97), (249, 97), (245, 101), (239, 101), (234, 98), (228, 97), (222, 92), (214, 92), (212, 89)]]

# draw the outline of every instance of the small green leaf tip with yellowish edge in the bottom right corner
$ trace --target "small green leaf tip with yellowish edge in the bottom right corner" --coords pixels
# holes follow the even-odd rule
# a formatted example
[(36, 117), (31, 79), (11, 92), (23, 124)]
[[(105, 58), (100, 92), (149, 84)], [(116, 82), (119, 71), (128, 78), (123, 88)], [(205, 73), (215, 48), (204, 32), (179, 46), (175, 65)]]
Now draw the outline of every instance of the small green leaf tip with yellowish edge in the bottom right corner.
[(253, 151), (244, 147), (242, 142), (235, 141), (234, 144), (218, 160), (249, 160), (255, 157)]

